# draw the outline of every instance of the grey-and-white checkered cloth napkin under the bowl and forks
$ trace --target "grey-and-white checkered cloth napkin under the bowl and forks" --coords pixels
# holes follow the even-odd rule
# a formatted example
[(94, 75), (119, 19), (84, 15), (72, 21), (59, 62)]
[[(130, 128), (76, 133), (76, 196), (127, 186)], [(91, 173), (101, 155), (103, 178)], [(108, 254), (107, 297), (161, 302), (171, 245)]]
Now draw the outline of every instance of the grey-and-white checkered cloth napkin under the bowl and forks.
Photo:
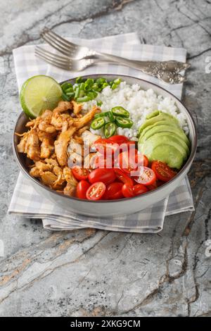
[[(88, 46), (91, 49), (96, 49), (96, 51), (115, 54), (133, 60), (186, 61), (185, 49), (141, 44), (136, 33), (104, 37), (101, 39), (70, 38), (70, 40), (77, 44)], [(48, 45), (41, 46), (52, 51)], [(36, 58), (34, 56), (34, 47), (34, 45), (23, 46), (13, 50), (15, 73), (19, 89), (23, 82), (33, 75), (51, 75), (58, 82), (70, 79), (71, 77), (77, 77), (78, 73), (70, 73), (58, 69)], [(113, 73), (116, 75), (122, 74), (139, 77), (155, 82), (157, 85), (172, 92), (178, 98), (181, 98), (181, 84), (167, 85), (133, 68), (103, 63), (87, 68), (80, 75), (91, 75), (94, 73)], [(186, 177), (170, 196), (139, 213), (113, 218), (82, 216), (65, 211), (60, 206), (45, 199), (44, 196), (40, 196), (30, 185), (30, 182), (20, 173), (8, 213), (25, 218), (41, 218), (44, 228), (49, 230), (75, 230), (84, 227), (95, 227), (103, 230), (155, 233), (162, 230), (165, 216), (184, 211), (193, 211), (193, 208), (191, 188)]]

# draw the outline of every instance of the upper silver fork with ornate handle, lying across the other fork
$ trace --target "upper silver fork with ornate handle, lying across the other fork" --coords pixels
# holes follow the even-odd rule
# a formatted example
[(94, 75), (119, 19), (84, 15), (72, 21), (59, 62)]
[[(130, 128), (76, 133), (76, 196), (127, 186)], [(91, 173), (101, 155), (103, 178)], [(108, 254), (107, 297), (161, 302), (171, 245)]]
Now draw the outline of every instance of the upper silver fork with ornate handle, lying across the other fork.
[(51, 46), (53, 46), (53, 48), (55, 48), (57, 51), (60, 51), (61, 54), (72, 59), (80, 60), (84, 58), (101, 58), (101, 60), (104, 61), (108, 60), (117, 62), (119, 64), (127, 65), (129, 67), (141, 70), (143, 73), (152, 75), (153, 77), (158, 77), (159, 79), (165, 80), (165, 82), (171, 84), (184, 82), (186, 77), (179, 75), (179, 72), (190, 67), (189, 63), (178, 61), (132, 61), (120, 56), (100, 53), (87, 47), (68, 42), (68, 40), (60, 37), (49, 29), (45, 29), (43, 32), (41, 32), (41, 37), (43, 37), (43, 39)]

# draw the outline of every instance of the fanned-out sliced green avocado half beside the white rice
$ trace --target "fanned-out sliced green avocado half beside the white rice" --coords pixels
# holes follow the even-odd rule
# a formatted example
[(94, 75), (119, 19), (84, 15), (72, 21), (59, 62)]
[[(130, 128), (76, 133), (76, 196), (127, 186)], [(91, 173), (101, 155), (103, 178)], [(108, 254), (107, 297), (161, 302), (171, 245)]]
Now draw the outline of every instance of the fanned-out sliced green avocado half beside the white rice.
[(154, 111), (139, 128), (138, 149), (150, 162), (162, 161), (180, 169), (190, 154), (190, 142), (177, 118)]

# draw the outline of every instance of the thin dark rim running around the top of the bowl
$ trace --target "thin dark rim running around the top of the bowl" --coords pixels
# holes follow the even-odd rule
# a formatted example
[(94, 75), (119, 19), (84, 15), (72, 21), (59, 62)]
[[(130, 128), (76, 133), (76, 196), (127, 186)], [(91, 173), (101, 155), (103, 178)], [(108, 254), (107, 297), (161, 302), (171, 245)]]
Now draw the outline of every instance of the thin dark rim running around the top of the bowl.
[[(175, 177), (172, 178), (172, 180), (170, 180), (169, 182), (166, 182), (164, 185), (160, 186), (160, 187), (157, 187), (156, 189), (153, 189), (149, 192), (146, 192), (146, 193), (143, 193), (141, 195), (138, 195), (138, 196), (132, 196), (130, 198), (124, 198), (124, 199), (115, 199), (115, 200), (87, 200), (87, 199), (79, 199), (75, 196), (68, 196), (68, 195), (65, 195), (63, 193), (60, 193), (60, 192), (56, 192), (55, 190), (51, 189), (50, 187), (47, 187), (46, 185), (42, 184), (41, 182), (39, 182), (39, 180), (37, 180), (37, 178), (35, 177), (32, 177), (30, 175), (30, 173), (28, 173), (27, 170), (25, 170), (25, 168), (23, 167), (23, 163), (22, 161), (20, 160), (20, 156), (19, 156), (19, 152), (17, 150), (17, 145), (15, 144), (15, 129), (18, 125), (18, 122), (20, 120), (20, 118), (22, 118), (23, 115), (25, 115), (25, 113), (22, 111), (20, 113), (20, 115), (18, 116), (18, 119), (16, 120), (16, 123), (15, 123), (15, 127), (14, 127), (14, 130), (13, 130), (13, 154), (15, 155), (15, 160), (17, 161), (19, 167), (20, 167), (20, 170), (23, 171), (23, 173), (30, 179), (32, 180), (35, 184), (39, 185), (41, 188), (44, 188), (44, 189), (47, 189), (49, 192), (53, 193), (53, 194), (56, 194), (58, 196), (63, 196), (64, 199), (69, 199), (69, 200), (73, 200), (73, 201), (81, 201), (81, 202), (84, 202), (84, 203), (87, 203), (87, 204), (90, 204), (91, 202), (92, 203), (95, 203), (95, 204), (105, 204), (105, 203), (117, 203), (117, 202), (122, 202), (124, 203), (124, 201), (134, 201), (134, 199), (140, 199), (141, 196), (151, 196), (152, 194), (155, 194), (155, 192), (159, 192), (160, 190), (166, 188), (167, 186), (169, 187), (172, 182), (174, 182), (175, 180), (178, 180), (179, 177), (181, 177), (181, 175), (184, 173), (184, 171), (188, 168), (188, 166), (193, 162), (193, 158), (195, 157), (196, 155), (196, 149), (197, 149), (197, 130), (196, 130), (196, 123), (195, 121), (193, 120), (193, 116), (191, 115), (191, 112), (188, 111), (188, 108), (186, 108), (186, 106), (184, 106), (184, 104), (181, 102), (181, 100), (179, 100), (177, 98), (177, 96), (174, 96), (174, 94), (172, 94), (171, 92), (167, 91), (167, 89), (163, 88), (163, 87), (160, 87), (159, 85), (153, 83), (153, 82), (149, 82), (148, 80), (143, 80), (139, 77), (134, 77), (134, 76), (129, 76), (129, 75), (115, 75), (115, 74), (109, 74), (109, 73), (101, 73), (101, 74), (93, 74), (93, 75), (83, 75), (82, 77), (85, 77), (85, 78), (90, 78), (90, 77), (105, 77), (105, 76), (113, 76), (113, 77), (125, 77), (126, 78), (134, 78), (136, 80), (139, 80), (141, 82), (144, 82), (144, 83), (148, 83), (150, 85), (153, 85), (155, 87), (158, 87), (158, 89), (162, 89), (164, 92), (167, 92), (167, 94), (170, 94), (170, 96), (172, 96), (174, 99), (177, 100), (177, 102), (179, 102), (179, 104), (181, 104), (186, 113), (188, 113), (189, 115), (189, 118), (191, 120), (191, 125), (192, 125), (192, 130), (193, 130), (193, 144), (191, 146), (191, 154), (189, 155), (188, 157), (188, 160), (186, 161), (186, 163), (184, 164), (184, 166), (181, 168), (181, 170), (179, 170), (179, 173), (177, 173), (177, 175)], [(77, 76), (78, 77), (78, 76)], [(64, 80), (63, 82), (60, 82), (59, 84), (63, 84), (64, 82), (70, 82), (72, 80), (75, 80), (77, 77), (72, 77), (70, 78), (69, 80)]]

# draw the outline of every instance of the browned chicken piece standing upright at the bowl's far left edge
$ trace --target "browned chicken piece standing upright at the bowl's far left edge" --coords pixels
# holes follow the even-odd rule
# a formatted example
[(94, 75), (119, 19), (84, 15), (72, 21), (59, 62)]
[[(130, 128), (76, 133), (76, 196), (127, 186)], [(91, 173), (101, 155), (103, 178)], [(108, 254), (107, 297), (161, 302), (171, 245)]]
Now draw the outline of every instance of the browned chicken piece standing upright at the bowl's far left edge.
[(27, 141), (25, 144), (25, 153), (28, 158), (33, 161), (39, 161), (40, 158), (40, 147), (39, 147), (39, 137), (37, 135), (37, 130), (32, 129), (27, 135)]

